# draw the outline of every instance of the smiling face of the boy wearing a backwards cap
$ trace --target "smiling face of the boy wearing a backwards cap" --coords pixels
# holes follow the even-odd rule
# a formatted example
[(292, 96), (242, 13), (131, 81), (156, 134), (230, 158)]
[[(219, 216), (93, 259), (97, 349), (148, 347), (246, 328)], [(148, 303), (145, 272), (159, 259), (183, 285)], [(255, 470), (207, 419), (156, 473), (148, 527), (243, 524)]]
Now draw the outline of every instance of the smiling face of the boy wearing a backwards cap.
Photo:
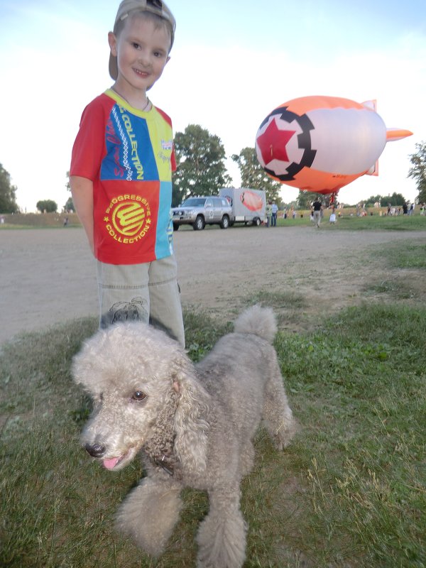
[(170, 59), (170, 34), (165, 26), (156, 28), (143, 16), (126, 19), (118, 36), (108, 34), (112, 55), (117, 58), (116, 86), (146, 92), (157, 81)]

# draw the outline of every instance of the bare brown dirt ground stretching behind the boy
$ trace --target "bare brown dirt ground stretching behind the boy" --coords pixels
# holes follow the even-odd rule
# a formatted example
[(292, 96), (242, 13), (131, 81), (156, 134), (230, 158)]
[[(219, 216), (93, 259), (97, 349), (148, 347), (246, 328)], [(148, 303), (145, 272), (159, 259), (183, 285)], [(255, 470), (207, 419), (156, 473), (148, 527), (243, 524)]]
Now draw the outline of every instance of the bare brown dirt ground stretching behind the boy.
[[(316, 314), (361, 301), (366, 282), (388, 277), (381, 245), (425, 237), (312, 226), (178, 231), (182, 302), (227, 317), (258, 290), (294, 294), (305, 301), (305, 318), (289, 325), (306, 327)], [(0, 231), (0, 275), (0, 343), (97, 315), (94, 260), (82, 229)]]

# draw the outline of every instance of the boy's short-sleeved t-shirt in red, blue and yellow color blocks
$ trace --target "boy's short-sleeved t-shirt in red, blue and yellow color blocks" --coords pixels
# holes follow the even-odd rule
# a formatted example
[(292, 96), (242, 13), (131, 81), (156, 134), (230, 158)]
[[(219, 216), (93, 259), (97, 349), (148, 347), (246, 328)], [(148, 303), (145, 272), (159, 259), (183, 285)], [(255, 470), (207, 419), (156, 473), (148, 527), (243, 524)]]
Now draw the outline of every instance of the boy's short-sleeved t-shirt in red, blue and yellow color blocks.
[(146, 263), (173, 253), (175, 168), (172, 123), (163, 111), (133, 109), (111, 89), (87, 105), (70, 175), (93, 182), (99, 261)]

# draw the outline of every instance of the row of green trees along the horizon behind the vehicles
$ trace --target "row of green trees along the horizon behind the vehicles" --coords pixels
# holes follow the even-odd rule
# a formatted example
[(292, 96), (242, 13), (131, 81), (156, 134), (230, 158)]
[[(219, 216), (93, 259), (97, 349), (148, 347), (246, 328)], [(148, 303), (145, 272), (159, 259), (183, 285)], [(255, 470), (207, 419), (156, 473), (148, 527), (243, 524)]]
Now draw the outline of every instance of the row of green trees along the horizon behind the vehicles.
[[(416, 143), (415, 148), (416, 152), (409, 156), (411, 167), (408, 170), (408, 178), (413, 178), (417, 184), (416, 202), (426, 203), (426, 141)], [(218, 195), (221, 187), (231, 186), (232, 179), (226, 170), (226, 153), (219, 136), (209, 133), (198, 124), (189, 124), (185, 131), (175, 134), (175, 153), (177, 169), (173, 174), (173, 207), (190, 195)], [(261, 168), (255, 148), (242, 148), (239, 154), (231, 155), (231, 159), (239, 167), (242, 187), (265, 190), (267, 200), (275, 201), (278, 206), (283, 207), (279, 195), (282, 185), (270, 178)], [(70, 189), (69, 184), (67, 188)], [(11, 185), (11, 175), (0, 164), (0, 213), (19, 212), (17, 191), (18, 188)], [(310, 203), (316, 197), (320, 197), (327, 205), (330, 196), (300, 191), (296, 205), (300, 209), (309, 209)], [(376, 202), (402, 206), (405, 198), (394, 192), (393, 195), (384, 197), (371, 196), (364, 203), (369, 205)], [(58, 210), (58, 204), (53, 200), (40, 200), (36, 207), (40, 212)], [(74, 210), (71, 197), (62, 209)]]

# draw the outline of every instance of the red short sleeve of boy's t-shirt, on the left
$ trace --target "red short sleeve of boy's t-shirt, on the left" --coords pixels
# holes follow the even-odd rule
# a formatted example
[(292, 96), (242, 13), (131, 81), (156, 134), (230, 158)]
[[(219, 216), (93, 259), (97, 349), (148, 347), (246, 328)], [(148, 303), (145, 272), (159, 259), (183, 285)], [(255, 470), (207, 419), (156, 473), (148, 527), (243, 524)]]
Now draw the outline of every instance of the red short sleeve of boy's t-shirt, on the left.
[(84, 109), (72, 147), (70, 175), (95, 180), (105, 153), (105, 111), (98, 99)]

